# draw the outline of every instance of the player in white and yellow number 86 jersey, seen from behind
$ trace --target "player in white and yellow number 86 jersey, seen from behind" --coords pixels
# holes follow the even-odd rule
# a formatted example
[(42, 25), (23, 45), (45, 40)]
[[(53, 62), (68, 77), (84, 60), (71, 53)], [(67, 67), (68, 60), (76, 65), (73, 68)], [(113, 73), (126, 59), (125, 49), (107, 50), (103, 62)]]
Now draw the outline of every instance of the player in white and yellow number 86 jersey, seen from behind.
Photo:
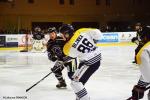
[(70, 24), (62, 25), (59, 31), (67, 41), (63, 47), (65, 55), (79, 59), (78, 69), (73, 74), (71, 81), (76, 99), (90, 100), (84, 85), (100, 66), (101, 53), (95, 40), (101, 37), (101, 32), (92, 28), (81, 28), (74, 31)]

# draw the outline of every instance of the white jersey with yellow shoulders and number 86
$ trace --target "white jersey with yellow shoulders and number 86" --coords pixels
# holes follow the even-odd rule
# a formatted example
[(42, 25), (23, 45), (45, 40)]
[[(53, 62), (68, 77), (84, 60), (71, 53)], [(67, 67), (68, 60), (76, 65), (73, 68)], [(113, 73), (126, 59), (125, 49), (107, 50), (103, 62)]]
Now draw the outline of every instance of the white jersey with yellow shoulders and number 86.
[[(78, 57), (81, 61), (94, 63), (100, 59), (100, 49), (94, 40), (100, 39), (101, 35), (102, 33), (98, 29), (81, 28), (65, 44), (63, 52), (67, 56)], [(94, 57), (96, 58), (93, 59)]]

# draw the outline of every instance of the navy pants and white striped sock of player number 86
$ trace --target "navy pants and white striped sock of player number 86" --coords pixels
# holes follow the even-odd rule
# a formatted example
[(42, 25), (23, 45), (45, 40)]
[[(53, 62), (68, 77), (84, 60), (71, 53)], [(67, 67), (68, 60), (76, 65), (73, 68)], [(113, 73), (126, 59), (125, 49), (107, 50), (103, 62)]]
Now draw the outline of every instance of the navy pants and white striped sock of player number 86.
[(100, 61), (92, 64), (90, 66), (82, 65), (74, 73), (73, 80), (71, 82), (71, 87), (74, 90), (77, 99), (79, 100), (89, 100), (88, 93), (84, 88), (85, 83), (92, 76), (92, 74), (99, 68)]

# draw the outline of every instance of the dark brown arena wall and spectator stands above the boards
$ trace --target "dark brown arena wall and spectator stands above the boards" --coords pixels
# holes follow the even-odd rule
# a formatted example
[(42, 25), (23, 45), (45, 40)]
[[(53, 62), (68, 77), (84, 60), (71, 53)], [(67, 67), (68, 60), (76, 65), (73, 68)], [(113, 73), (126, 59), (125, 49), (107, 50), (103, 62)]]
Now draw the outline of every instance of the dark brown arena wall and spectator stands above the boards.
[(101, 31), (131, 31), (150, 24), (150, 0), (0, 0), (0, 34), (46, 30), (62, 23)]

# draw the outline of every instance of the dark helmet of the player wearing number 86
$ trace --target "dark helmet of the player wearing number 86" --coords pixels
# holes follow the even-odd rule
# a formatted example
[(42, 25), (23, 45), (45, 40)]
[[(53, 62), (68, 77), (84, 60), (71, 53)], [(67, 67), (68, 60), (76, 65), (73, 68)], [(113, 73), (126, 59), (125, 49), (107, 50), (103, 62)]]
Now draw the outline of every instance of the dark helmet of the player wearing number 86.
[(69, 36), (73, 35), (74, 32), (74, 28), (72, 25), (70, 24), (63, 24), (60, 28), (59, 28), (59, 32), (62, 34), (69, 34)]

